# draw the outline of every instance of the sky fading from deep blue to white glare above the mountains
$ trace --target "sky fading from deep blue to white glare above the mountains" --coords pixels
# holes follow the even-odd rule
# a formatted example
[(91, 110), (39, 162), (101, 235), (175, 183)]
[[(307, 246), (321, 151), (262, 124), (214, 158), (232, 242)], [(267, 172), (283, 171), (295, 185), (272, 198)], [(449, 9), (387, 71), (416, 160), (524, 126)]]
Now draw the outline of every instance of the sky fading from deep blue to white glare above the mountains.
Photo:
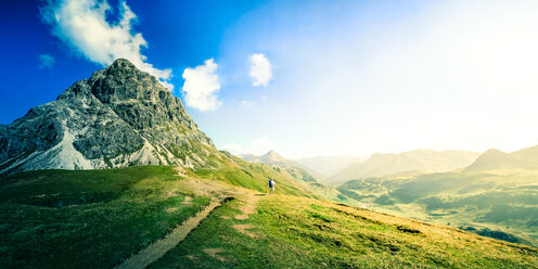
[(234, 153), (538, 144), (536, 1), (105, 2), (0, 3), (0, 123), (119, 55)]

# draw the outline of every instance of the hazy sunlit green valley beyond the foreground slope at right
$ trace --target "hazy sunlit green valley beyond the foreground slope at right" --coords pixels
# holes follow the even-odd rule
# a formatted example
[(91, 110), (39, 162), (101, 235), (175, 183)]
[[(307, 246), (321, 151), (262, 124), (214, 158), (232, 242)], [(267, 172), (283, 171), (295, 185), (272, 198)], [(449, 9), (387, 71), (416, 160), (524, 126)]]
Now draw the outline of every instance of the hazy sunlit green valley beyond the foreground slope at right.
[(338, 190), (386, 213), (537, 246), (537, 178), (528, 169), (445, 172), (353, 180)]

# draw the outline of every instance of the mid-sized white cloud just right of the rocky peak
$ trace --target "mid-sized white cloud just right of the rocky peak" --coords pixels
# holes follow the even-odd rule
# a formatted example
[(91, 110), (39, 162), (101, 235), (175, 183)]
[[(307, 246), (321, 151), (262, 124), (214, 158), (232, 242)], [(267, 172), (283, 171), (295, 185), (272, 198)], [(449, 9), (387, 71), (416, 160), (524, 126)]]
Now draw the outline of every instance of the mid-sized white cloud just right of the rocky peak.
[(220, 90), (218, 76), (215, 74), (218, 65), (213, 59), (206, 60), (203, 65), (183, 71), (183, 92), (188, 106), (200, 111), (213, 111), (220, 106), (217, 99)]

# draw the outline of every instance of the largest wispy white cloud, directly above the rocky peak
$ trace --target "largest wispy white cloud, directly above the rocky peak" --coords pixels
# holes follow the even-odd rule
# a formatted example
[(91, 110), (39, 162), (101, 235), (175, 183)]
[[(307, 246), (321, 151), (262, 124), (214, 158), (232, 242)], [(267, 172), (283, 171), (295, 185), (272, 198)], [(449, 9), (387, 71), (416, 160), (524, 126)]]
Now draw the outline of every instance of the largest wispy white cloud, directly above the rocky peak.
[(125, 1), (119, 2), (118, 10), (119, 22), (107, 21), (112, 9), (106, 0), (48, 0), (40, 12), (52, 34), (88, 60), (108, 65), (116, 59), (127, 59), (172, 90), (171, 69), (153, 67), (140, 51), (148, 48), (148, 42), (132, 30), (137, 15)]

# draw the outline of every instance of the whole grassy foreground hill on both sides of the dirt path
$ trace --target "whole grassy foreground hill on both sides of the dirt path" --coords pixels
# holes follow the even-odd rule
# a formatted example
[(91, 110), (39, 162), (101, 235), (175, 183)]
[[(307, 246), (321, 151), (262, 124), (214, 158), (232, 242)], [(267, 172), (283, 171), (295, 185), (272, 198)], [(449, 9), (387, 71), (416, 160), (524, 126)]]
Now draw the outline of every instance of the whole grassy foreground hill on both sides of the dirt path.
[[(3, 177), (0, 268), (112, 268), (163, 239), (210, 198), (223, 196), (234, 200), (151, 267), (505, 268), (538, 262), (535, 248), (323, 202), (318, 198), (338, 192), (290, 174), (238, 161), (218, 170), (140, 166)], [(268, 177), (277, 179), (279, 194), (260, 194), (267, 192)]]

